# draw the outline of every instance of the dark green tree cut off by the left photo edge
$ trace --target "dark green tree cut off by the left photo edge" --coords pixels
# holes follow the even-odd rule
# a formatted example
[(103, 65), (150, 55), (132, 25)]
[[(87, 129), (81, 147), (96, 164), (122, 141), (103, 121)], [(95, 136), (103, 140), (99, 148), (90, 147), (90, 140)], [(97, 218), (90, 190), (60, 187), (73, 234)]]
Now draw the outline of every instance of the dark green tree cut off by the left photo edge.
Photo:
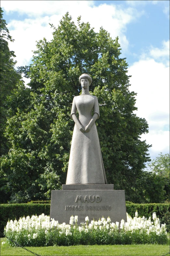
[[(3, 19), (3, 10), (0, 8), (0, 123), (1, 123), (1, 150), (0, 155), (6, 154), (9, 150), (7, 139), (4, 136), (8, 114), (7, 97), (16, 88), (21, 75), (15, 70), (16, 61), (14, 51), (10, 51), (8, 41), (14, 40), (9, 35), (7, 23)], [(8, 41), (7, 41), (8, 40)]]

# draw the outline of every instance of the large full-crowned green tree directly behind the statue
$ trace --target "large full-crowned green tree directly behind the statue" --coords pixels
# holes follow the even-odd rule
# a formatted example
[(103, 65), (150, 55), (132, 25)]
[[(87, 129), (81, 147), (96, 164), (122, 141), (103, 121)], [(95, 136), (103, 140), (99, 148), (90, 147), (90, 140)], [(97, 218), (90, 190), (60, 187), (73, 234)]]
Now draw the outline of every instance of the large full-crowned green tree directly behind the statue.
[(70, 111), (73, 97), (81, 93), (82, 73), (92, 76), (90, 90), (99, 101), (96, 125), (107, 181), (125, 190), (128, 199), (149, 161), (149, 145), (140, 140), (148, 124), (133, 113), (136, 94), (128, 89), (128, 64), (120, 58), (118, 38), (113, 40), (102, 27), (94, 32), (80, 17), (77, 27), (68, 13), (60, 26), (51, 28), (51, 42), (40, 40), (33, 64), (21, 67), (31, 78), (29, 92), (20, 88), (10, 97), (16, 113), (8, 119), (11, 147), (2, 170), (11, 202), (50, 198), (51, 190), (65, 183), (74, 128)]

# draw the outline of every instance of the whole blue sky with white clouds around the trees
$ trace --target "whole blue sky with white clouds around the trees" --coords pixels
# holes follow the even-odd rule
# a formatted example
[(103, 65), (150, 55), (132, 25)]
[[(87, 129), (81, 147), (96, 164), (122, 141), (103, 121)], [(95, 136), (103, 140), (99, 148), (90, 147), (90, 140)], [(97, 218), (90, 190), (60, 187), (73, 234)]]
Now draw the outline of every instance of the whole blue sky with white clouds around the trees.
[[(31, 63), (36, 41), (52, 40), (49, 23), (57, 27), (67, 11), (75, 24), (81, 16), (95, 32), (103, 26), (112, 39), (119, 37), (120, 57), (126, 58), (132, 76), (129, 90), (137, 93), (135, 113), (149, 124), (141, 140), (152, 145), (151, 159), (169, 153), (169, 5), (167, 0), (1, 0), (3, 18), (15, 39), (9, 49), (15, 52), (16, 67)], [(29, 79), (24, 81), (27, 85)]]

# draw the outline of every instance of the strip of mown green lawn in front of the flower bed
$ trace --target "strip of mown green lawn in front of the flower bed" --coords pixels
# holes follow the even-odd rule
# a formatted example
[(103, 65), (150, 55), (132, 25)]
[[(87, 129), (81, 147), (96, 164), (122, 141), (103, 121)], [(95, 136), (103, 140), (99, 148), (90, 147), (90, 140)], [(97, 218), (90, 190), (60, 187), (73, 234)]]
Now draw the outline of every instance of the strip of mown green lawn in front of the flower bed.
[[(168, 234), (169, 238), (169, 234)], [(2, 246), (2, 242), (6, 242)], [(164, 255), (169, 252), (167, 245), (87, 245), (87, 246), (49, 246), (26, 247), (39, 255)], [(21, 247), (10, 247), (6, 238), (1, 238), (0, 255), (34, 255)], [(167, 254), (167, 256), (170, 254)]]

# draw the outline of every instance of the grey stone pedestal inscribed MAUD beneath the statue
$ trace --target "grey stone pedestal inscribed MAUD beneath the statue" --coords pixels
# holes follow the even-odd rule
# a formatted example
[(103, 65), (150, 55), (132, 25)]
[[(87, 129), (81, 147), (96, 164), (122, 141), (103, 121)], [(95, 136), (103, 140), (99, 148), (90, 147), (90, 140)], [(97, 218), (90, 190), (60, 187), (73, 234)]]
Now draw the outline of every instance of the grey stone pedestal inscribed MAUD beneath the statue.
[(69, 224), (70, 217), (78, 215), (78, 224), (102, 217), (116, 223), (126, 219), (124, 190), (113, 190), (114, 185), (63, 185), (63, 190), (51, 191), (50, 219)]

